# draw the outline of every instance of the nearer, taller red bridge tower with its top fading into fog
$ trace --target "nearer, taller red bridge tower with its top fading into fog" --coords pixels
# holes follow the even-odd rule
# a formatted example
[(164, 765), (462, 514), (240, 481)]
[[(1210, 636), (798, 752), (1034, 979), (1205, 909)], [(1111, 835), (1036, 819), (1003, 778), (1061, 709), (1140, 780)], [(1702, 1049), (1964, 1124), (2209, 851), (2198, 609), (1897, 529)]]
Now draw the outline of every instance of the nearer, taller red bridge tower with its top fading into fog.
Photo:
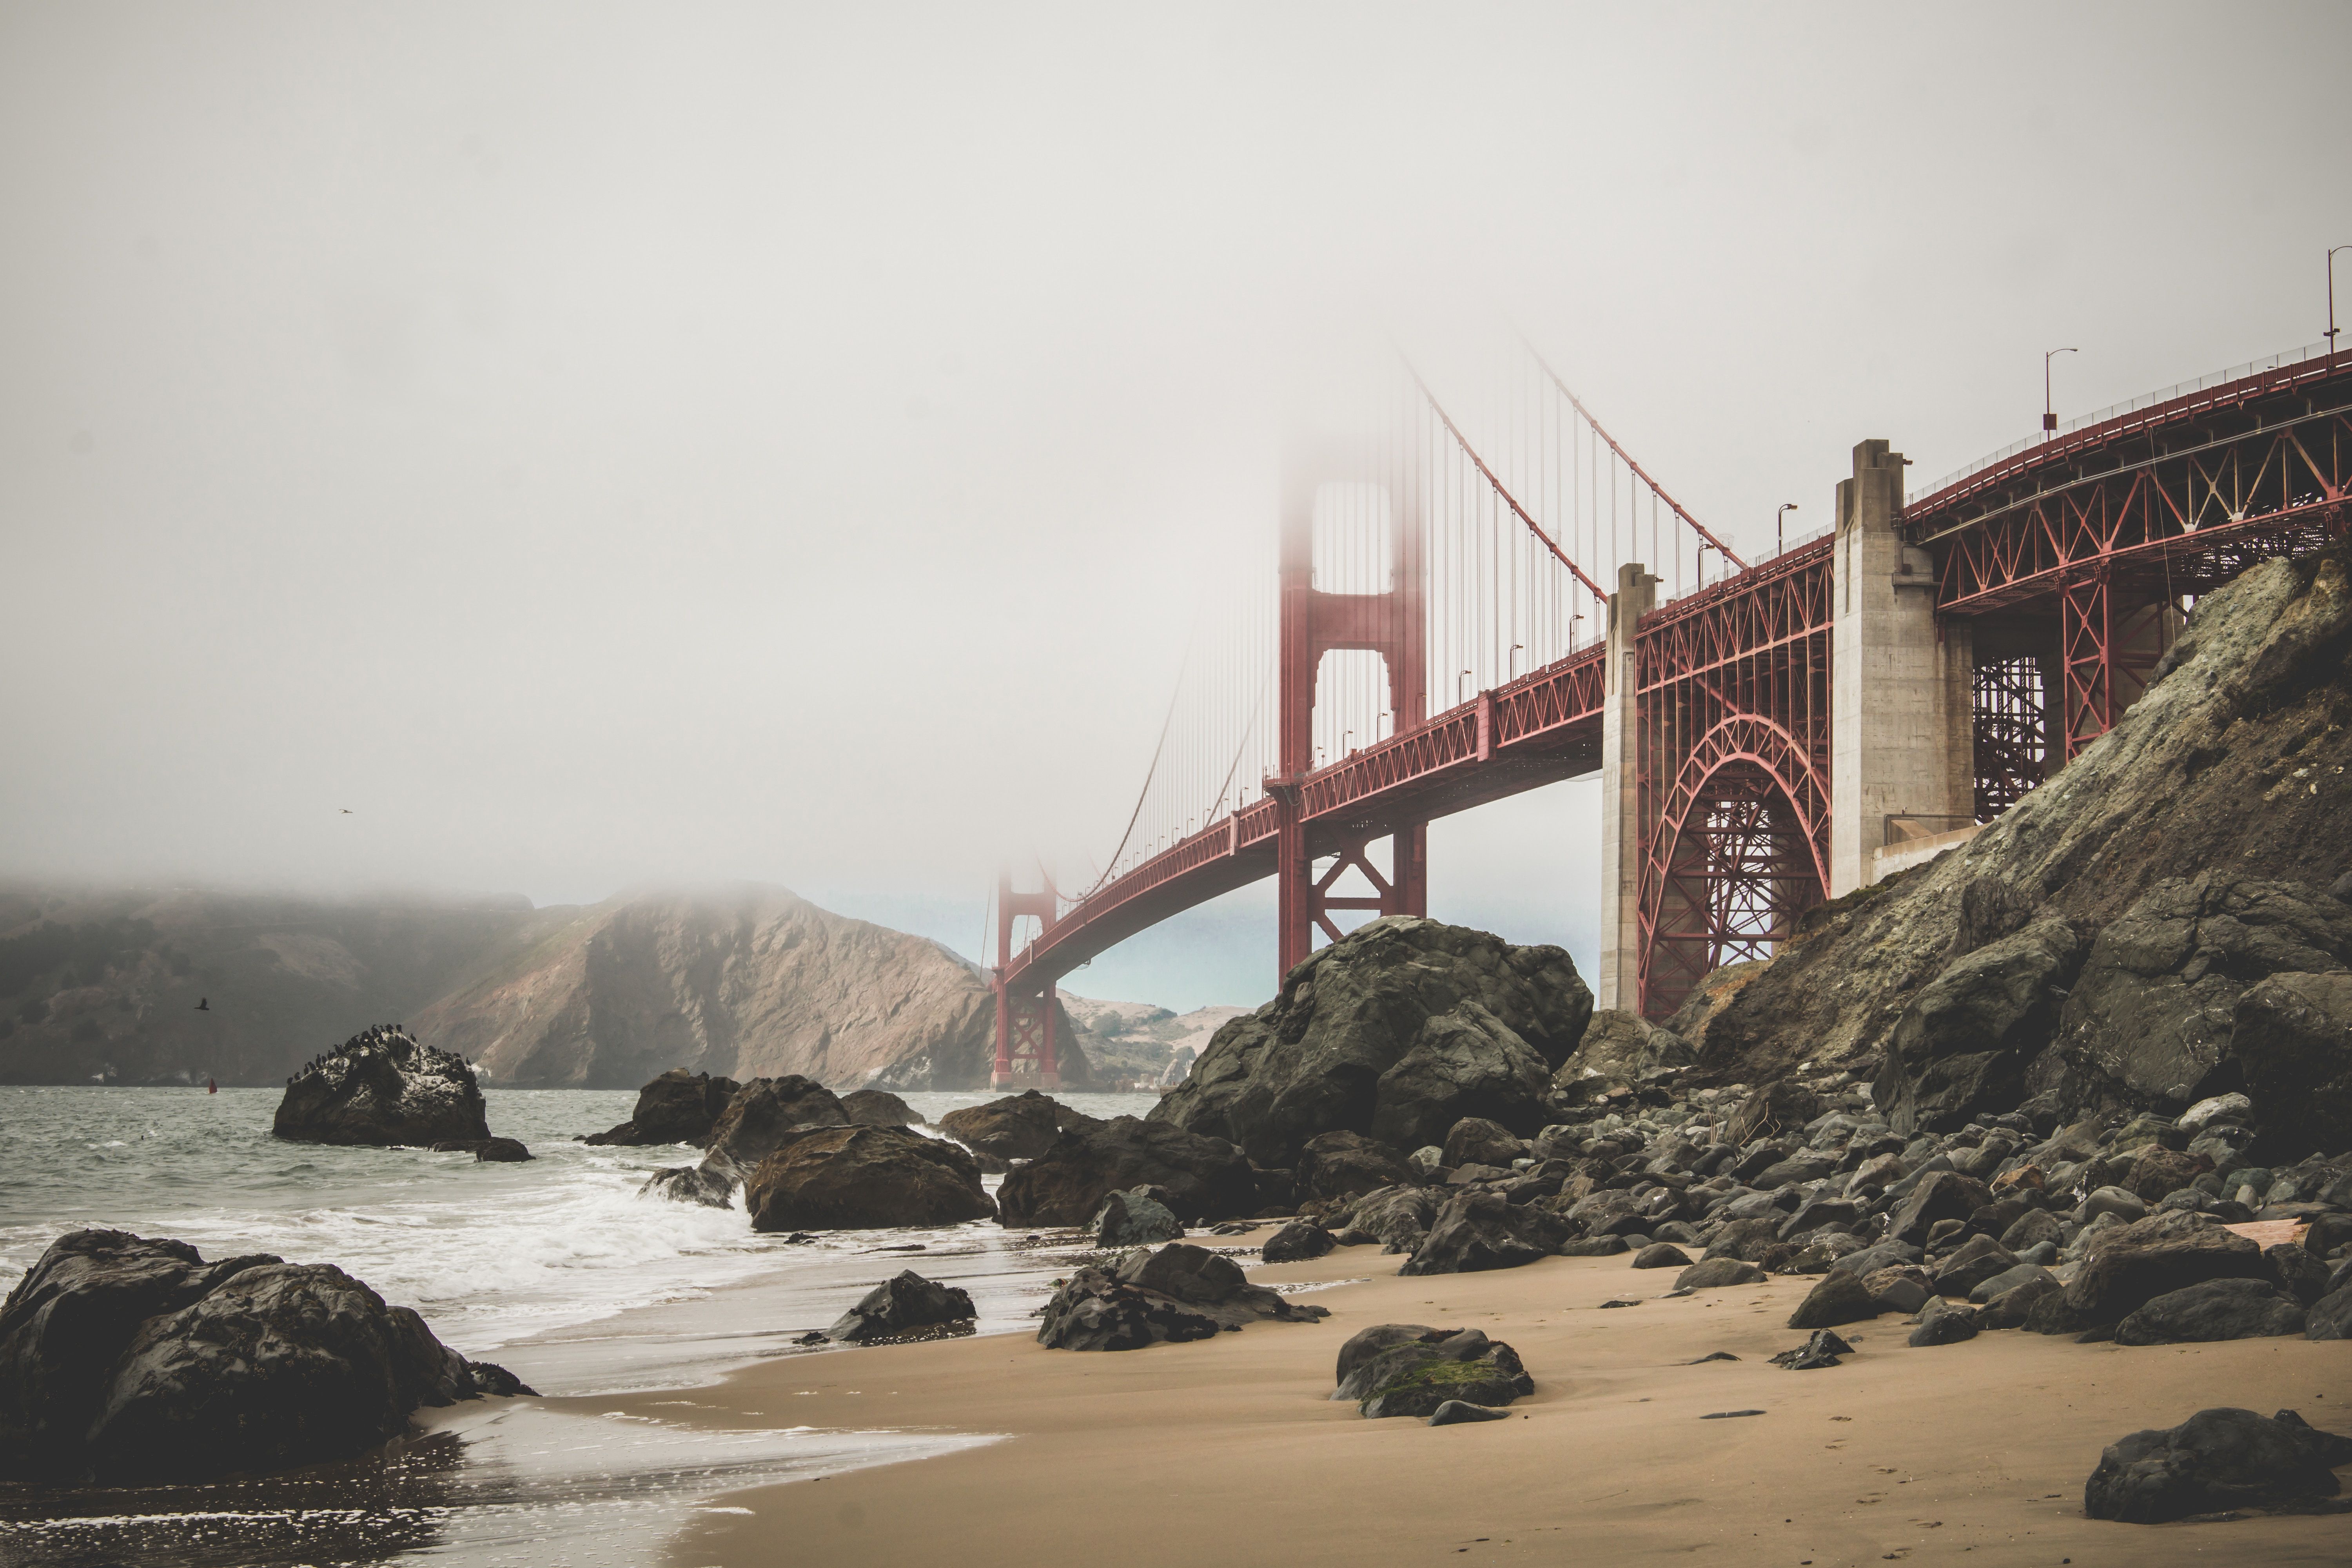
[[(1312, 447), (1291, 447), (1282, 465), (1279, 545), (1279, 778), (1265, 780), (1279, 818), (1275, 832), (1275, 889), (1282, 973), (1291, 973), (1315, 950), (1315, 931), (1338, 940), (1336, 910), (1378, 914), (1430, 912), (1430, 827), (1414, 823), (1390, 835), (1390, 875), (1383, 877), (1364, 839), (1324, 846), (1334, 865), (1317, 877), (1315, 851), (1301, 818), (1301, 783), (1315, 769), (1315, 682), (1324, 654), (1371, 651), (1388, 670), (1392, 731), (1428, 719), (1428, 656), (1423, 609), (1421, 512), (1409, 487), (1388, 489), (1381, 527), (1388, 531), (1385, 592), (1329, 592), (1315, 585), (1315, 501), (1334, 473)], [(1338, 762), (1336, 757), (1331, 762)], [(1334, 893), (1350, 870), (1374, 889), (1371, 898)]]

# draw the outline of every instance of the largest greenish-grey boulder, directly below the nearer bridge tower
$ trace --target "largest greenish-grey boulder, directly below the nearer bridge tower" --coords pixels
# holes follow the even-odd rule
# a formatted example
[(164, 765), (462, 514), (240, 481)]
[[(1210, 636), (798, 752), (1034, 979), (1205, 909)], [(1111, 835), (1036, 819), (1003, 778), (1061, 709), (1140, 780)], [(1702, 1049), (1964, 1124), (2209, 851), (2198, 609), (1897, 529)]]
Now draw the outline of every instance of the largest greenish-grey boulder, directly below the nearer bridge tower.
[(1489, 1117), (1529, 1138), (1548, 1121), (1550, 1074), (1590, 1018), (1592, 992), (1559, 947), (1385, 917), (1291, 969), (1279, 997), (1218, 1030), (1152, 1121), (1284, 1168), (1331, 1131), (1418, 1150), (1463, 1117)]

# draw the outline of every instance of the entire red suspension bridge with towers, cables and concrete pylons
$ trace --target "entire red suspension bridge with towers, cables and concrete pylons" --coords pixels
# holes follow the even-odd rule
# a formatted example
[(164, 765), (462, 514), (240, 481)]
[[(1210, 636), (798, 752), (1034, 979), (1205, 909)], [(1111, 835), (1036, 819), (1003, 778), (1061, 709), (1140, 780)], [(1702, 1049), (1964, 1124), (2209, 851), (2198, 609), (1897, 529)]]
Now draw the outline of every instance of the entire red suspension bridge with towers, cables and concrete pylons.
[[(1279, 973), (1428, 912), (1428, 823), (1602, 776), (1599, 1006), (1665, 1018), (1804, 910), (1957, 842), (2105, 733), (2197, 595), (2343, 538), (2352, 355), (2103, 409), (1740, 559), (1529, 348), (1472, 440), (1411, 369), (1287, 454), (1272, 559), (1197, 639), (1080, 891), (997, 886), (997, 1084), (1054, 985), (1277, 879)], [(1907, 849), (1917, 846), (1917, 849)]]

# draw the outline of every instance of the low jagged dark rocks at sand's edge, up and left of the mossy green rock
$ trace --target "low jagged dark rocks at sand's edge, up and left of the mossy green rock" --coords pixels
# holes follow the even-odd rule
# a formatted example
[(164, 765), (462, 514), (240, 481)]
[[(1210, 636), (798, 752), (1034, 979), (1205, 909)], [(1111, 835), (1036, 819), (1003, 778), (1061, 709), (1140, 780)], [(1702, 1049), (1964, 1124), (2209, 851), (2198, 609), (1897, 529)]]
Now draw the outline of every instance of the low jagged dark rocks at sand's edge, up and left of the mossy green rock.
[(1209, 1340), (1244, 1324), (1312, 1324), (1324, 1307), (1254, 1286), (1232, 1258), (1190, 1241), (1129, 1253), (1120, 1267), (1077, 1269), (1044, 1307), (1037, 1342), (1047, 1349), (1143, 1349)]

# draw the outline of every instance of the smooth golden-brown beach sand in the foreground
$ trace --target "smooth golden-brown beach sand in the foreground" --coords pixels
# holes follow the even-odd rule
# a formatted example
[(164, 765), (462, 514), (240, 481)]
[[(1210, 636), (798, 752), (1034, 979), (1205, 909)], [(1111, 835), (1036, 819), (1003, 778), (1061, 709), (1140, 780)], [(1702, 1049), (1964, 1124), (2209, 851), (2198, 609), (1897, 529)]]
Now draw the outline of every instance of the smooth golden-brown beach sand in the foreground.
[[(1268, 1232), (1258, 1232), (1263, 1237)], [(1343, 1248), (1251, 1269), (1345, 1281), (1322, 1324), (1197, 1345), (1049, 1352), (1025, 1335), (851, 1349), (720, 1387), (604, 1401), (713, 1427), (1002, 1434), (1004, 1441), (715, 1497), (673, 1568), (1040, 1561), (1392, 1563), (2345, 1563), (2352, 1519), (2119, 1526), (2082, 1516), (2098, 1450), (2206, 1406), (2352, 1432), (2352, 1345), (2074, 1345), (2016, 1331), (1912, 1349), (1898, 1316), (1842, 1328), (1839, 1368), (1766, 1356), (1809, 1279), (1653, 1300), (1675, 1269), (1548, 1258), (1399, 1279)], [(1611, 1298), (1639, 1307), (1599, 1309)], [(1475, 1326), (1519, 1349), (1510, 1420), (1430, 1429), (1331, 1403), (1371, 1324)], [(1679, 1366), (1726, 1349), (1740, 1361)], [(1764, 1415), (1700, 1420), (1710, 1410)]]

